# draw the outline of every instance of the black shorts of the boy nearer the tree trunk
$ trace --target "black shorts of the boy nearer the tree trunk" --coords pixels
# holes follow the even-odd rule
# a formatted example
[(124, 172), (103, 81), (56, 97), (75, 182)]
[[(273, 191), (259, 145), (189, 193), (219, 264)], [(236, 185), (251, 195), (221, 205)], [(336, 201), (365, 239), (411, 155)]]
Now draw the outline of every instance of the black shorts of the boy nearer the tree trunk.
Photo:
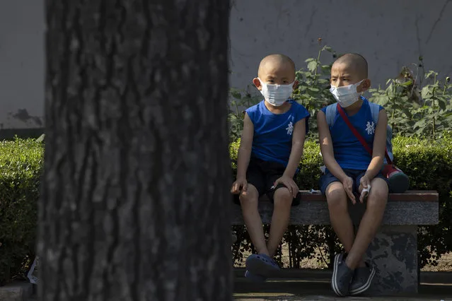
[[(281, 163), (264, 161), (257, 158), (250, 158), (248, 170), (246, 171), (246, 180), (248, 184), (253, 184), (256, 187), (259, 196), (267, 195), (270, 201), (273, 202), (274, 191), (279, 188), (286, 187), (284, 184), (278, 184), (273, 187), (274, 182), (282, 177), (286, 167)], [(234, 197), (234, 202), (240, 204), (238, 194)], [(292, 206), (300, 203), (300, 195), (292, 201)]]

